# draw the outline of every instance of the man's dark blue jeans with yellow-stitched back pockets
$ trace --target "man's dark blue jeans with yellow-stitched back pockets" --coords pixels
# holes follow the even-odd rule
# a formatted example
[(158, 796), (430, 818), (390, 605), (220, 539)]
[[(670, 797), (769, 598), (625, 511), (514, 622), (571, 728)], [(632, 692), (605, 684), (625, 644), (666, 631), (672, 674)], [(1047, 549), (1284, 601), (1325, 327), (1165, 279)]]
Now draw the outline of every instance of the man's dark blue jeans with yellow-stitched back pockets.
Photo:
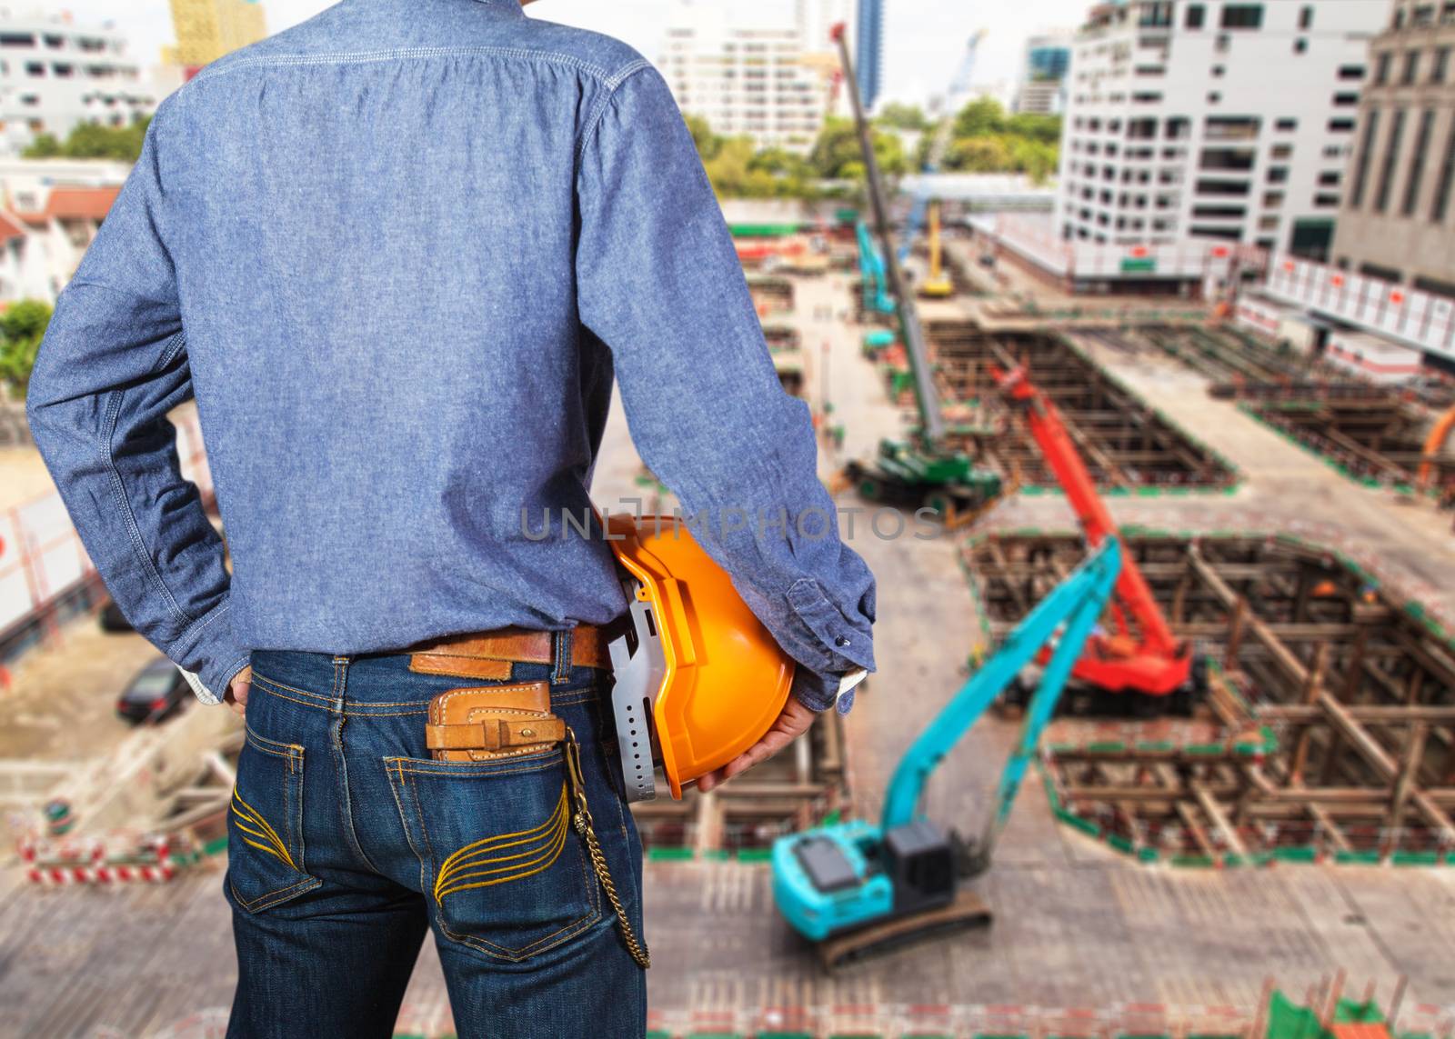
[[(407, 653), (259, 650), (252, 665), (228, 811), (228, 1036), (390, 1036), (426, 927), (461, 1038), (643, 1035), (646, 975), (585, 841), (562, 827), (560, 748), (489, 763), (425, 748), (431, 697), (492, 682), (412, 672)], [(551, 709), (581, 741), (595, 829), (640, 934), (642, 845), (601, 745), (607, 675), (512, 666), (509, 681), (554, 678)], [(471, 845), (489, 861), (467, 866), (487, 869), (448, 880)]]

